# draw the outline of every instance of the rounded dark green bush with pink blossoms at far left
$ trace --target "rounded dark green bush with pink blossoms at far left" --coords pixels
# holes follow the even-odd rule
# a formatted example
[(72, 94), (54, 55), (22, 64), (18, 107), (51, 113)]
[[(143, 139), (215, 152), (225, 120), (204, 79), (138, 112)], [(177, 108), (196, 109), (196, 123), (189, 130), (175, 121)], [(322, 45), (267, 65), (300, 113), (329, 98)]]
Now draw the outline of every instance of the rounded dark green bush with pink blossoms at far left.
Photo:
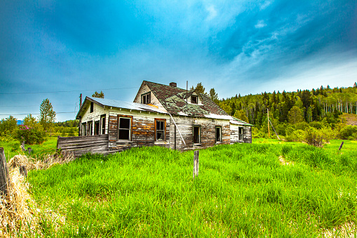
[(36, 125), (34, 127), (27, 125), (20, 125), (15, 130), (15, 139), (19, 140), (20, 143), (25, 141), (26, 144), (40, 144), (45, 140), (46, 133), (43, 131), (42, 127)]

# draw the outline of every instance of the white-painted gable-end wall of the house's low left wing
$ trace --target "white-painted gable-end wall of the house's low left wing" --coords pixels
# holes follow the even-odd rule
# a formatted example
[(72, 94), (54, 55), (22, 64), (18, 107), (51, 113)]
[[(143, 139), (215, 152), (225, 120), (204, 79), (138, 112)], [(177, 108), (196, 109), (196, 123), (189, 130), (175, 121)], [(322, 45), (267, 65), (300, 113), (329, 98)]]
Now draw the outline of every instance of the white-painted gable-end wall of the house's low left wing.
[[(92, 121), (92, 131), (93, 131), (93, 135), (94, 135), (94, 123), (95, 121), (100, 121), (100, 117), (102, 116), (102, 114), (106, 114), (105, 117), (105, 133), (108, 133), (108, 112), (109, 109), (108, 107), (101, 107), (100, 105), (97, 105), (95, 103), (93, 103), (93, 112), (90, 112), (90, 101), (88, 101), (88, 105), (86, 106), (86, 108), (83, 109), (85, 112), (81, 118), (81, 124), (82, 123), (87, 123), (88, 121)], [(82, 125), (81, 125), (82, 126)], [(100, 128), (102, 128), (102, 121), (100, 121)], [(82, 130), (82, 128), (81, 128)], [(87, 128), (88, 130), (88, 128)], [(80, 135), (82, 135), (82, 131), (80, 133)], [(100, 130), (100, 134), (102, 133), (102, 131)]]

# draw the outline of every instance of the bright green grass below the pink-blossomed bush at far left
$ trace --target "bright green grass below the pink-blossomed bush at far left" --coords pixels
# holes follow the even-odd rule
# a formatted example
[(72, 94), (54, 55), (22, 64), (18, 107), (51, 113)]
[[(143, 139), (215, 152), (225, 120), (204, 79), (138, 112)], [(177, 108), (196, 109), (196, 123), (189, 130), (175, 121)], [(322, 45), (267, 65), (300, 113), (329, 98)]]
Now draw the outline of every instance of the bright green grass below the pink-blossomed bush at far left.
[[(7, 161), (14, 157), (16, 154), (22, 154), (20, 149), (21, 143), (13, 138), (0, 138), (0, 147), (4, 147), (5, 156)], [(43, 154), (55, 152), (57, 145), (57, 137), (47, 137), (46, 140), (40, 145), (27, 145), (25, 148), (31, 147), (32, 157), (42, 157)], [(26, 153), (25, 153), (26, 154)]]

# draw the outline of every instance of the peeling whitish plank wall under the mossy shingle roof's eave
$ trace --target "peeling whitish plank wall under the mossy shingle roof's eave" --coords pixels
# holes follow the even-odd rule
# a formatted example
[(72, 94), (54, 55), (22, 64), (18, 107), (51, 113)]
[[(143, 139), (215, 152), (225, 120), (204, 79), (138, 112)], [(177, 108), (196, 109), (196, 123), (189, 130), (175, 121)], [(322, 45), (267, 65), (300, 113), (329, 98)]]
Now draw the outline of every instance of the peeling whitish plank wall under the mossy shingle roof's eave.
[[(178, 129), (180, 130), (186, 146), (182, 142), (180, 133), (176, 131), (176, 150), (194, 150), (200, 148), (211, 147), (217, 144), (229, 144), (231, 141), (229, 131), (229, 121), (222, 119), (206, 119), (192, 117), (177, 117), (174, 116)], [(170, 128), (170, 148), (175, 149), (175, 125), (171, 119)], [(194, 126), (201, 126), (201, 143), (194, 144), (193, 129)], [(216, 126), (222, 128), (222, 142), (216, 143)]]

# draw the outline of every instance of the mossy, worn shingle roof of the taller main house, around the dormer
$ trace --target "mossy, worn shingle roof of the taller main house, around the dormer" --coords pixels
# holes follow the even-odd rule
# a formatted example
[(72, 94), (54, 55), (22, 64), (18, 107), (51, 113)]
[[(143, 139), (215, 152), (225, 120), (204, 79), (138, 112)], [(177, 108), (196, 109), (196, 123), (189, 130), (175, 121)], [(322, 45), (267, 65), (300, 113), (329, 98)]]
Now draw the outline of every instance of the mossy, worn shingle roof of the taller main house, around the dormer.
[(207, 117), (210, 114), (229, 116), (217, 104), (213, 103), (206, 94), (196, 91), (202, 98), (202, 105), (196, 105), (186, 103), (186, 93), (189, 97), (188, 94), (191, 95), (194, 93), (194, 90), (186, 91), (186, 89), (156, 84), (150, 81), (143, 81), (142, 83), (147, 84), (151, 92), (154, 93), (161, 105), (163, 105), (170, 114), (191, 117)]

